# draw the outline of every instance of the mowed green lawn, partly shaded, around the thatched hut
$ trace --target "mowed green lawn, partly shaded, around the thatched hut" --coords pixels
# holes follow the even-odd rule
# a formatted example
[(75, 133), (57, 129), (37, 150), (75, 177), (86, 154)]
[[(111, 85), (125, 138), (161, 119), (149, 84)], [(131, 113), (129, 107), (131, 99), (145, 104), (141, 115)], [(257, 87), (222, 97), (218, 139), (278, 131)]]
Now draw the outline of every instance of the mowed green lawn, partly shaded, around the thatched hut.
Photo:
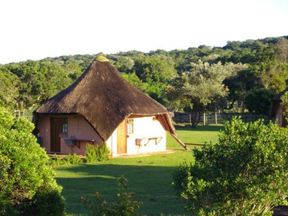
[[(184, 143), (217, 142), (222, 126), (179, 127), (177, 133)], [(192, 151), (184, 151), (169, 134), (167, 149), (180, 150), (170, 154), (121, 157), (84, 165), (62, 165), (55, 168), (56, 180), (63, 187), (66, 213), (87, 215), (87, 207), (80, 197), (93, 199), (101, 192), (107, 201), (115, 200), (116, 179), (121, 174), (128, 179), (128, 191), (136, 192), (136, 200), (143, 201), (139, 212), (146, 215), (191, 215), (184, 210), (185, 202), (174, 195), (172, 172), (182, 161), (193, 161)], [(189, 146), (191, 149), (193, 146)]]

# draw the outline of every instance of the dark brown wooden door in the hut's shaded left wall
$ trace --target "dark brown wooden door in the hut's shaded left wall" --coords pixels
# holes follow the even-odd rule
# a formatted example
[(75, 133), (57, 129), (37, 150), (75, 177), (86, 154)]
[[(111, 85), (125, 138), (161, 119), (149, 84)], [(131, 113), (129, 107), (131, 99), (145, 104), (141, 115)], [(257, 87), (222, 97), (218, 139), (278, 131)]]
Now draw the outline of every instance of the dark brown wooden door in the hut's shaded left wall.
[(62, 132), (62, 118), (51, 118), (51, 152), (61, 152), (60, 148), (60, 134)]

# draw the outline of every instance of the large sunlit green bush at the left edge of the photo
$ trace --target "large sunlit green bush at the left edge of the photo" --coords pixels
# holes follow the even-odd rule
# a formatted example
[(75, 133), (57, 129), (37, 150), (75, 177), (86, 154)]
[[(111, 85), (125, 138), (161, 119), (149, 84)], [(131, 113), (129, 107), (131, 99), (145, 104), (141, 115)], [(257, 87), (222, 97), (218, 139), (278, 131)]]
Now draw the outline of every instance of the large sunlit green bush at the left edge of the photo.
[(32, 130), (0, 107), (0, 215), (64, 215), (62, 188)]

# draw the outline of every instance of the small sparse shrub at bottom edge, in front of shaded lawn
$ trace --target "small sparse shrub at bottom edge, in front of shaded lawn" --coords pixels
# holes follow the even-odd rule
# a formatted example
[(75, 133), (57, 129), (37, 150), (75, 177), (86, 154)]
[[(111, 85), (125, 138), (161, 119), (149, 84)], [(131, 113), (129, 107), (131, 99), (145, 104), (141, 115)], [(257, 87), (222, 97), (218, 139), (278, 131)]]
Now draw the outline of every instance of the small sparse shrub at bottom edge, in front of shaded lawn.
[(96, 204), (87, 197), (81, 197), (81, 201), (89, 208), (89, 215), (105, 215), (105, 216), (133, 216), (138, 215), (138, 209), (143, 206), (142, 202), (136, 201), (134, 192), (125, 192), (127, 190), (127, 179), (122, 175), (117, 181), (118, 193), (116, 201), (105, 201), (100, 192), (95, 193)]

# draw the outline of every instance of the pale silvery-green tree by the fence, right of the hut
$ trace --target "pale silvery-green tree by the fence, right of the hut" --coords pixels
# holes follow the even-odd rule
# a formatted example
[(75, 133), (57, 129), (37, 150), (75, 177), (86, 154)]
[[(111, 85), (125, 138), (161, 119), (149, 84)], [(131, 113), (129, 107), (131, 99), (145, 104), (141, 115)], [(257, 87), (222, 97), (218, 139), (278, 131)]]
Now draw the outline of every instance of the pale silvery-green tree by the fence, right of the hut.
[(170, 106), (175, 110), (189, 111), (194, 114), (193, 125), (199, 122), (199, 114), (208, 104), (227, 96), (223, 80), (232, 71), (231, 65), (208, 64), (199, 60), (191, 63), (192, 69), (174, 78), (167, 87)]

